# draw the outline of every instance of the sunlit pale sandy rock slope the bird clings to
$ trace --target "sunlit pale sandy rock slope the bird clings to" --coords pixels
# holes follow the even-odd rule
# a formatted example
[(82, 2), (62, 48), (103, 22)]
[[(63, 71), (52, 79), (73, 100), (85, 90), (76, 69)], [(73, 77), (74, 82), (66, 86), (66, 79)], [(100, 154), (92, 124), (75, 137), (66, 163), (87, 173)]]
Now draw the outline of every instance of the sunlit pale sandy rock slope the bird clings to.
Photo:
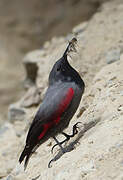
[[(65, 145), (68, 153), (62, 155), (56, 148), (52, 155), (50, 151), (54, 141), (50, 139), (31, 157), (24, 172), (23, 165), (18, 164), (18, 158), (27, 129), (46, 91), (48, 74), (54, 62), (61, 57), (71, 35), (53, 38), (44, 44), (43, 49), (26, 56), (26, 71), (30, 63), (38, 70), (35, 81), (26, 87), (26, 95), (10, 106), (9, 111), (14, 112), (16, 118), (9, 112), (9, 124), (0, 130), (0, 169), (3, 168), (0, 178), (123, 179), (122, 17), (122, 0), (105, 2), (89, 22), (73, 29), (78, 39), (78, 54), (71, 55), (70, 63), (84, 79), (86, 90), (76, 115), (65, 131), (71, 133), (77, 121), (81, 121), (82, 126), (78, 135)], [(26, 79), (32, 80), (29, 73)], [(24, 114), (21, 116), (19, 112), (22, 110)], [(58, 139), (62, 139), (61, 135)], [(54, 162), (52, 168), (48, 169), (47, 164), (52, 157)]]

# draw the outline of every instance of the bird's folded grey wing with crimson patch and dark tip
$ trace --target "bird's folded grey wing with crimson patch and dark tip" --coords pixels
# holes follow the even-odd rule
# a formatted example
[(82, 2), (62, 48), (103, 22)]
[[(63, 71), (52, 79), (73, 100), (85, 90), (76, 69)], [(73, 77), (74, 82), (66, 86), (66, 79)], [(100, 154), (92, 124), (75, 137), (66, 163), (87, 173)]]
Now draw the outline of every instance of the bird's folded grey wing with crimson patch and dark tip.
[(74, 89), (72, 87), (47, 91), (44, 101), (29, 129), (26, 144), (30, 144), (33, 141), (34, 144), (39, 142), (50, 128), (60, 122), (62, 114), (67, 110), (73, 96)]

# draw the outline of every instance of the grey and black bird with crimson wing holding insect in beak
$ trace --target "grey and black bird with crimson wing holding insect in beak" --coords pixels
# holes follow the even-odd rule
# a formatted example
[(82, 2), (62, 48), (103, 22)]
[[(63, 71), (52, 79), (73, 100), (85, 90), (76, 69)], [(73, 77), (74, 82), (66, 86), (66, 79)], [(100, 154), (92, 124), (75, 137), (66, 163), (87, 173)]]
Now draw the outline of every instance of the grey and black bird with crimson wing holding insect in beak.
[[(59, 145), (61, 151), (64, 152), (62, 144), (78, 133), (79, 122), (73, 126), (72, 135), (63, 132), (75, 114), (85, 89), (85, 83), (81, 76), (68, 62), (70, 52), (76, 52), (76, 44), (77, 39), (74, 37), (49, 74), (47, 91), (30, 125), (25, 147), (19, 158), (20, 163), (25, 159), (24, 169), (26, 169), (31, 155), (49, 138), (53, 138), (56, 142), (52, 151), (55, 146)], [(62, 142), (56, 138), (60, 133), (66, 138)]]

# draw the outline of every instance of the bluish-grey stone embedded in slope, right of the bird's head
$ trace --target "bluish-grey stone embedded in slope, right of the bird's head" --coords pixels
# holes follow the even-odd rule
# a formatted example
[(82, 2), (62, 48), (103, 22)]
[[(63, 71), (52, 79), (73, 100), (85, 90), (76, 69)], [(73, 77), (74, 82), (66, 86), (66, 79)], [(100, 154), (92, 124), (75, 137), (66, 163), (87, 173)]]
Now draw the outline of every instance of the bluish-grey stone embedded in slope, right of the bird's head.
[(106, 54), (107, 64), (111, 64), (117, 60), (120, 60), (120, 49), (113, 49)]

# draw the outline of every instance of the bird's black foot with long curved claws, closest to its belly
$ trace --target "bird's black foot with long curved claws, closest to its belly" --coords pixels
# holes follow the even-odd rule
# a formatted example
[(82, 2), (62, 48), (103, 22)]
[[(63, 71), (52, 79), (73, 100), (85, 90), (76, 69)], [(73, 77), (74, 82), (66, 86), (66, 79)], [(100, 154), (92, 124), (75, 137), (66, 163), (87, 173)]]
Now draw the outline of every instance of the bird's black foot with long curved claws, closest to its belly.
[[(56, 141), (56, 143), (57, 144), (55, 144), (53, 147), (52, 147), (52, 150), (51, 150), (51, 152), (53, 153), (53, 149), (54, 149), (54, 147), (56, 147), (57, 145), (59, 145), (60, 147), (62, 147), (61, 145), (63, 144), (63, 143), (65, 143), (66, 141), (69, 141), (70, 140), (70, 138), (72, 138), (72, 137), (74, 137), (77, 133), (78, 133), (78, 124), (79, 123), (81, 123), (81, 122), (77, 122), (76, 124), (74, 124), (74, 126), (73, 126), (73, 133), (71, 134), (71, 135), (69, 135), (69, 134), (66, 134), (66, 133), (64, 133), (64, 132), (62, 132), (62, 134), (66, 137), (66, 139), (64, 140), (64, 141), (62, 141), (62, 142), (58, 142), (57, 143), (57, 141)], [(63, 148), (63, 147), (62, 147)]]

